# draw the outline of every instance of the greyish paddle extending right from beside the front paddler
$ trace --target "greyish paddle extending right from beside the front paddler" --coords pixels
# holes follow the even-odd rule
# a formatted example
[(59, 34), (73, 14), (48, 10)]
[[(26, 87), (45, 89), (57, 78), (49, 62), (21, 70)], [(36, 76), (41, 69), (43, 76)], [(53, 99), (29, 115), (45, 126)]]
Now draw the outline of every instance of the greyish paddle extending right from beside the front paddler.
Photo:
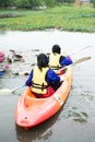
[(90, 56), (88, 56), (88, 57), (83, 57), (83, 58), (81, 58), (81, 59), (74, 61), (72, 64), (66, 66), (66, 67), (63, 67), (63, 68), (61, 68), (61, 69), (59, 69), (59, 70), (64, 70), (64, 69), (71, 67), (71, 66), (74, 67), (75, 64), (79, 64), (79, 63), (81, 63), (81, 62), (83, 62), (83, 61), (87, 61), (87, 60), (90, 60), (90, 59), (91, 59)]

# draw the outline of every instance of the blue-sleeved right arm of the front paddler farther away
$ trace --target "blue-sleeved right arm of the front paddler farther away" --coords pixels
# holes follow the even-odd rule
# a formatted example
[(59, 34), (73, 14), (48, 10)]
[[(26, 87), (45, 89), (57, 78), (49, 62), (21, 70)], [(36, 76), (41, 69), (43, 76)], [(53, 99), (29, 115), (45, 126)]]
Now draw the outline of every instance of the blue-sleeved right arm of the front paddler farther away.
[(60, 57), (60, 64), (61, 66), (69, 66), (72, 63), (72, 60), (69, 56), (64, 57), (64, 56), (61, 56)]

